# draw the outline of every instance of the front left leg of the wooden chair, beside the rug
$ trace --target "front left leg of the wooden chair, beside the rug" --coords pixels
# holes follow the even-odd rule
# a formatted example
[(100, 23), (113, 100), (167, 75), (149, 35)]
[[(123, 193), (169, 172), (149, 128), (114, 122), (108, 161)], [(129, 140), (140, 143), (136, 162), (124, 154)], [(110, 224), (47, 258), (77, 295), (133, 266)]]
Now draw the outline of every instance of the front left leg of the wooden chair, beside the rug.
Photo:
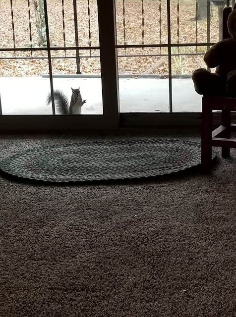
[(212, 109), (202, 98), (201, 170), (211, 173), (212, 165)]

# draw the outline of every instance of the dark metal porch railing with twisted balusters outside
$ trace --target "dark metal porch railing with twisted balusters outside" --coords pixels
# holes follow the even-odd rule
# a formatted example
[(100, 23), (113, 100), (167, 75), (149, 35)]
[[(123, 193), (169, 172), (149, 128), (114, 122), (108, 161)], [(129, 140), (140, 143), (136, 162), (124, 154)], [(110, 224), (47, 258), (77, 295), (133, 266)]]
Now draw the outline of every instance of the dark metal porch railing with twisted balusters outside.
[[(88, 45), (83, 45), (82, 47), (79, 48), (80, 43), (79, 43), (79, 32), (81, 32), (81, 30), (79, 30), (78, 28), (78, 15), (77, 15), (77, 2), (78, 0), (73, 0), (73, 22), (74, 22), (74, 37), (75, 37), (75, 45), (74, 46), (69, 46), (66, 45), (66, 30), (65, 30), (65, 26), (66, 26), (66, 22), (65, 22), (65, 8), (64, 8), (64, 0), (61, 0), (61, 23), (62, 23), (62, 37), (63, 37), (63, 44), (61, 46), (56, 46), (56, 47), (51, 47), (51, 51), (62, 51), (62, 47), (63, 47), (63, 51), (64, 54), (63, 55), (53, 55), (51, 56), (52, 59), (59, 59), (59, 58), (63, 58), (63, 59), (67, 59), (67, 58), (75, 58), (76, 61), (76, 68), (77, 74), (81, 74), (81, 59), (83, 58), (96, 58), (99, 57), (99, 54), (92, 54), (93, 50), (99, 50), (99, 43), (97, 43), (98, 45), (92, 45), (92, 40), (91, 40), (91, 35), (92, 35), (92, 29), (91, 29), (91, 13), (90, 13), (90, 6), (91, 6), (91, 0), (86, 0), (87, 1), (87, 18), (86, 16), (83, 16), (83, 19), (87, 20), (87, 24), (88, 24)], [(145, 13), (147, 13), (145, 11), (145, 2), (147, 2), (147, 0), (139, 0), (140, 1), (140, 8), (141, 8), (141, 15), (140, 15), (140, 19), (141, 19), (141, 23), (140, 23), (140, 27), (141, 29), (140, 31), (140, 41), (139, 43), (134, 43), (135, 40), (131, 39), (132, 44), (129, 44), (129, 40), (127, 37), (127, 19), (126, 19), (126, 4), (128, 2), (128, 0), (117, 0), (118, 5), (121, 6), (122, 4), (122, 17), (117, 17), (117, 19), (122, 19), (122, 35), (123, 35), (123, 41), (121, 41), (121, 39), (118, 39), (118, 49), (124, 49), (124, 53), (119, 53), (118, 57), (142, 57), (142, 56), (167, 56), (168, 53), (167, 51), (163, 51), (162, 48), (168, 48), (168, 46), (170, 45), (171, 47), (177, 47), (178, 52), (177, 53), (172, 53), (173, 56), (178, 56), (178, 55), (202, 55), (204, 54), (204, 52), (198, 52), (197, 51), (197, 47), (199, 46), (206, 46), (207, 48), (214, 44), (216, 42), (216, 38), (214, 39), (215, 41), (211, 41), (211, 11), (210, 11), (210, 4), (213, 2), (217, 2), (217, 0), (215, 1), (210, 1), (207, 0), (207, 17), (206, 17), (206, 41), (200, 41), (200, 44), (198, 43), (199, 41), (199, 34), (198, 34), (198, 18), (197, 18), (197, 13), (198, 13), (198, 1), (195, 1), (195, 41), (194, 42), (181, 42), (180, 36), (181, 36), (181, 30), (180, 30), (180, 0), (177, 0), (175, 3), (175, 10), (177, 12), (177, 24), (173, 25), (173, 19), (172, 18), (172, 12), (174, 11), (174, 7), (172, 8), (172, 12), (171, 12), (171, 8), (170, 8), (170, 12), (168, 11), (168, 8), (166, 6), (166, 1), (163, 0), (157, 0), (156, 1), (156, 6), (157, 6), (157, 16), (159, 16), (159, 32), (157, 32), (157, 34), (159, 34), (159, 39), (156, 38), (156, 43), (150, 43), (150, 42), (146, 42), (145, 40), (145, 25), (147, 23), (146, 19), (145, 19)], [(81, 1), (80, 1), (81, 2)], [(229, 3), (227, 3), (229, 2)], [(232, 1), (232, 4), (234, 4), (235, 0)], [(19, 47), (16, 44), (16, 39), (15, 39), (15, 33), (17, 31), (16, 27), (15, 27), (15, 7), (13, 4), (13, 0), (10, 0), (10, 10), (11, 10), (11, 29), (12, 29), (12, 40), (13, 40), (13, 46), (12, 47), (0, 47), (0, 52), (13, 52), (13, 56), (0, 56), (0, 59), (43, 59), (43, 58), (47, 58), (47, 56), (37, 56), (37, 55), (32, 55), (33, 51), (41, 51), (42, 53), (44, 51), (47, 51), (46, 48), (42, 47), (42, 48), (34, 48), (32, 46), (32, 0), (27, 0), (27, 6), (28, 6), (28, 24), (29, 24), (29, 41), (30, 41), (30, 47), (29, 48), (25, 48), (25, 47)], [(136, 3), (138, 3), (138, 1), (136, 1)], [(230, 4), (230, 1), (225, 1), (225, 4)], [(94, 1), (93, 1), (93, 5), (94, 5)], [(147, 5), (147, 4), (146, 4)], [(135, 8), (134, 8), (135, 9)], [(184, 10), (184, 7), (182, 7), (182, 10)], [(166, 14), (167, 12), (167, 16), (164, 16), (164, 12)], [(81, 18), (81, 16), (80, 16)], [(173, 36), (171, 35), (171, 37), (168, 39), (168, 30), (166, 28), (166, 32), (164, 32), (163, 26), (164, 26), (164, 20), (166, 20), (166, 22), (168, 21), (168, 19), (170, 19), (170, 25), (169, 25), (169, 32), (171, 32), (171, 34), (176, 33), (177, 37), (174, 38), (174, 40), (176, 40), (175, 42), (173, 41)], [(166, 23), (168, 24), (168, 23)], [(176, 27), (176, 29), (174, 30), (174, 27)], [(154, 26), (155, 27), (155, 26)], [(96, 30), (97, 31), (97, 30)], [(165, 33), (165, 36), (164, 36)], [(34, 34), (35, 37), (35, 34)], [(164, 38), (163, 38), (164, 37)], [(122, 42), (122, 43), (121, 43)], [(192, 47), (193, 44), (197, 44), (195, 46), (195, 52), (190, 52), (190, 53), (179, 53), (179, 48), (180, 47)], [(141, 48), (142, 53), (127, 53), (127, 49), (128, 48), (132, 48), (132, 49), (137, 49), (137, 48)], [(160, 53), (144, 53), (144, 48), (160, 48)], [(75, 50), (76, 55), (67, 55), (66, 51), (67, 50)], [(85, 51), (88, 50), (90, 53), (89, 54), (80, 54), (80, 51)], [(30, 52), (30, 56), (20, 56), (19, 54), (17, 55), (16, 52), (18, 51), (29, 51)]]

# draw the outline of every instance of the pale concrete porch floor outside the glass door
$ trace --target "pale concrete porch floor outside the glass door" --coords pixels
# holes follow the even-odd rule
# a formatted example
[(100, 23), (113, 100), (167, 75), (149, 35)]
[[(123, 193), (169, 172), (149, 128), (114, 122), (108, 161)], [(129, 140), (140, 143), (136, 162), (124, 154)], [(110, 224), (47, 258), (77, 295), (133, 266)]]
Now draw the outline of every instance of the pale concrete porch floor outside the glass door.
[[(173, 111), (201, 111), (202, 96), (191, 78), (173, 78)], [(102, 114), (101, 78), (56, 77), (54, 89), (70, 99), (71, 87), (80, 87), (86, 104), (81, 114)], [(52, 114), (46, 106), (50, 80), (45, 77), (0, 77), (2, 114)], [(119, 78), (120, 112), (169, 112), (169, 80), (162, 78)], [(57, 112), (56, 112), (57, 113)]]

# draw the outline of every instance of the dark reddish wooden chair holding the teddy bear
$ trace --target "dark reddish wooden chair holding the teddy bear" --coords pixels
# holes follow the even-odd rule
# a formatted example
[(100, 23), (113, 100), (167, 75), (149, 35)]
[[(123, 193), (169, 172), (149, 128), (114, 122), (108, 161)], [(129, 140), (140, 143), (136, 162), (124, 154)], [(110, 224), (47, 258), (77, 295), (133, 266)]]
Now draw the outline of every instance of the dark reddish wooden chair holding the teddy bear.
[[(230, 38), (227, 19), (232, 7), (223, 11), (223, 39)], [(212, 131), (212, 110), (222, 111), (222, 124)], [(202, 97), (202, 132), (201, 132), (201, 169), (210, 174), (212, 166), (212, 147), (222, 148), (222, 157), (230, 156), (230, 149), (236, 148), (236, 140), (231, 139), (231, 132), (236, 131), (236, 124), (231, 123), (231, 111), (236, 111), (236, 98)]]

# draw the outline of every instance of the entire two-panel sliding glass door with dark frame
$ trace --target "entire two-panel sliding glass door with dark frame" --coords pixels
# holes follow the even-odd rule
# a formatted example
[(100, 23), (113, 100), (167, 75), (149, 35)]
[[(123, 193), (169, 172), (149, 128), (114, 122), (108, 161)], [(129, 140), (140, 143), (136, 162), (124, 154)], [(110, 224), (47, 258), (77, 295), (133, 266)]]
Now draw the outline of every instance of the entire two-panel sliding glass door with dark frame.
[[(0, 127), (117, 129), (200, 123), (192, 72), (234, 0), (0, 1)], [(214, 71), (214, 69), (212, 70)], [(80, 88), (80, 114), (59, 115)], [(51, 94), (52, 103), (46, 99)], [(195, 121), (194, 121), (195, 120)]]

